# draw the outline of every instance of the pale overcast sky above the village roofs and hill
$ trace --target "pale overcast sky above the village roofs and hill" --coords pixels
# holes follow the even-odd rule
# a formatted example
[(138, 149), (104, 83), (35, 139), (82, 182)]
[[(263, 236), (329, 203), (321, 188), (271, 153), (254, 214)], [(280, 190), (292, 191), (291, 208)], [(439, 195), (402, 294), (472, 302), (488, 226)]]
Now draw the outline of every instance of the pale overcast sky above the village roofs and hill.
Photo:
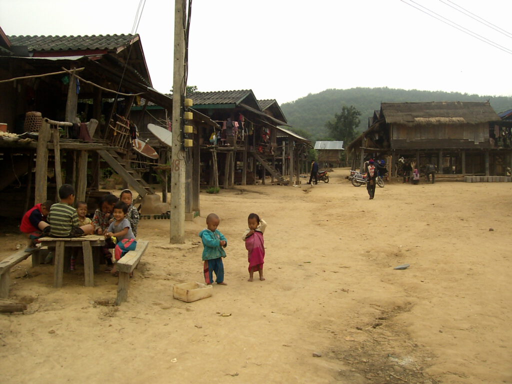
[[(512, 96), (509, 0), (193, 0), (192, 5), (188, 84), (199, 91), (252, 89), (258, 99), (279, 103), (354, 87)], [(0, 26), (7, 35), (129, 34), (138, 7), (139, 0), (0, 0)], [(154, 87), (168, 93), (174, 1), (145, 0), (137, 33)]]

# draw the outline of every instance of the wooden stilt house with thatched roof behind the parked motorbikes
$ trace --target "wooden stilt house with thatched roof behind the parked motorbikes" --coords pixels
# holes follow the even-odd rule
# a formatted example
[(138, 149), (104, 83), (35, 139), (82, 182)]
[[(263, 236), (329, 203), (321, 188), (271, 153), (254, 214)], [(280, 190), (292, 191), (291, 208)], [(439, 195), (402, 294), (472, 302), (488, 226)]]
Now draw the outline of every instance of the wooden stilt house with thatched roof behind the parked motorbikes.
[(389, 158), (393, 176), (401, 158), (418, 169), (431, 163), (441, 175), (505, 176), (512, 135), (499, 120), (488, 102), (382, 103), (347, 152), (352, 169), (370, 157)]

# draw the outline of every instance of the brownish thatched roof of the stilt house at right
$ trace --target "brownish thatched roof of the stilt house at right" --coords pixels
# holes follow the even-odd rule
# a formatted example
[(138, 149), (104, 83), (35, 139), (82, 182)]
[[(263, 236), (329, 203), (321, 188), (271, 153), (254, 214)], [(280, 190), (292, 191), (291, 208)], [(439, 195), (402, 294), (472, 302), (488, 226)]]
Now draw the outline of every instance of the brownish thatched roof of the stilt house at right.
[(388, 124), (479, 124), (500, 118), (488, 102), (442, 101), (382, 103), (381, 117)]

